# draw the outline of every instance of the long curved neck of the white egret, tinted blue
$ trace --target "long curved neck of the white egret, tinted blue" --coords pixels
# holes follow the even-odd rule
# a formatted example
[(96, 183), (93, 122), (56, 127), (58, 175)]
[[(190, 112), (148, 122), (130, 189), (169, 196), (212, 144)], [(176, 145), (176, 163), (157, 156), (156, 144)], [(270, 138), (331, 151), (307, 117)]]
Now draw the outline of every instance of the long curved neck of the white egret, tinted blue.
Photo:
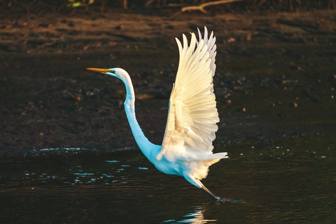
[(143, 131), (141, 130), (139, 123), (135, 117), (135, 106), (134, 106), (135, 94), (134, 94), (132, 81), (131, 81), (129, 74), (125, 70), (123, 70), (123, 73), (125, 74), (123, 74), (119, 78), (124, 82), (125, 87), (126, 87), (126, 100), (124, 102), (124, 106), (125, 106), (125, 112), (127, 115), (127, 119), (130, 123), (133, 136), (140, 150), (149, 160), (151, 160), (151, 158), (153, 158), (154, 156), (153, 153), (158, 153), (156, 151), (158, 151), (157, 149), (159, 149), (160, 146), (157, 146), (151, 143), (146, 138)]

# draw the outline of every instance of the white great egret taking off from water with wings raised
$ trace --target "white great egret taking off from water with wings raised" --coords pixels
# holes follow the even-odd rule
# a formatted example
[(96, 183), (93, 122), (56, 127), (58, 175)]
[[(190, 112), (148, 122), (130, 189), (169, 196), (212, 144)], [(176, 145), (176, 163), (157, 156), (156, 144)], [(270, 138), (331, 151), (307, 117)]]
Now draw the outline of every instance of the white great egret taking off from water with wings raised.
[(130, 75), (122, 68), (87, 68), (121, 79), (126, 87), (125, 112), (134, 138), (154, 166), (163, 173), (183, 176), (189, 183), (203, 189), (215, 200), (200, 180), (207, 176), (209, 166), (227, 153), (212, 153), (212, 141), (219, 122), (213, 93), (212, 77), (215, 72), (216, 38), (204, 27), (199, 41), (191, 33), (188, 46), (183, 34), (183, 47), (176, 39), (180, 59), (175, 83), (169, 99), (168, 119), (161, 146), (151, 143), (142, 132), (135, 117), (135, 94)]

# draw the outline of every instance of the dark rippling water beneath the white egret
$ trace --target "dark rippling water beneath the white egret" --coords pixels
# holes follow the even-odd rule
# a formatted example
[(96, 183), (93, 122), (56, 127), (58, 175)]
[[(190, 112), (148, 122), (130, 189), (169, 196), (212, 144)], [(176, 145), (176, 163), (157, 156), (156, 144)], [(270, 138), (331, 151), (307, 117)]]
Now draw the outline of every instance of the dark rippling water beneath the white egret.
[(331, 223), (334, 136), (231, 144), (203, 180), (213, 201), (140, 151), (44, 149), (1, 156), (2, 223)]

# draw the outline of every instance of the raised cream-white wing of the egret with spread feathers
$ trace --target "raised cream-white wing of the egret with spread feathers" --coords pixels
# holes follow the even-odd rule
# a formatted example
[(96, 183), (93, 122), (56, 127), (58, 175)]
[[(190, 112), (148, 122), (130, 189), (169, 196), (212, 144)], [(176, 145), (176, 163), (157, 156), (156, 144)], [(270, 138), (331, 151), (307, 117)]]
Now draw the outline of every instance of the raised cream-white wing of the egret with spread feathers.
[(216, 38), (208, 39), (198, 29), (199, 42), (191, 33), (191, 42), (183, 35), (183, 47), (176, 38), (180, 60), (175, 83), (169, 99), (168, 120), (161, 155), (172, 146), (183, 145), (186, 150), (212, 152), (212, 141), (219, 122), (213, 93)]

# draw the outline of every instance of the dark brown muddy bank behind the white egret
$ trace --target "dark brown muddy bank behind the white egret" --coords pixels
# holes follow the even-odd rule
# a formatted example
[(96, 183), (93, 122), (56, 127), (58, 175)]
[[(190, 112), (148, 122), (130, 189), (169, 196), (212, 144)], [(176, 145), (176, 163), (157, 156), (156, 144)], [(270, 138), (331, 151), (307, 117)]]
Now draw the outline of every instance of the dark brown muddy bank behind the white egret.
[(334, 13), (53, 13), (2, 19), (0, 150), (135, 147), (121, 81), (86, 67), (129, 71), (138, 121), (160, 144), (178, 66), (174, 38), (204, 25), (217, 37), (215, 145), (336, 135)]

